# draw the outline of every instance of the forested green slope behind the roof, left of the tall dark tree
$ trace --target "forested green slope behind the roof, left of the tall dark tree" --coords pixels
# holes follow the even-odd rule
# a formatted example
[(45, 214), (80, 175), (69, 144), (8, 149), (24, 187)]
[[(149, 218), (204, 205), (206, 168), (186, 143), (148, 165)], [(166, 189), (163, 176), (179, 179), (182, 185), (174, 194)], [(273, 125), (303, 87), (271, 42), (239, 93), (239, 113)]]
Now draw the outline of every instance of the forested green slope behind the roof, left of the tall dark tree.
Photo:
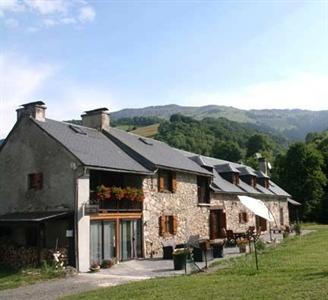
[[(169, 145), (234, 162), (256, 164), (255, 153), (273, 159), (286, 141), (278, 136), (259, 131), (249, 124), (240, 124), (225, 118), (195, 120), (175, 114), (162, 121), (156, 139)], [(256, 167), (256, 165), (254, 166)]]

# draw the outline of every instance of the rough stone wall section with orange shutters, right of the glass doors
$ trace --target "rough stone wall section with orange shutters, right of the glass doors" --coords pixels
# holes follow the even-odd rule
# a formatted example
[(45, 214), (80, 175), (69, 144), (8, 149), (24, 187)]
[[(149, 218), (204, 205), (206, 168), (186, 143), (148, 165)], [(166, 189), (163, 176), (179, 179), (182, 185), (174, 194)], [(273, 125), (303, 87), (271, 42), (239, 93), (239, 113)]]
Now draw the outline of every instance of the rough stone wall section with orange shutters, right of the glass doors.
[[(209, 237), (209, 209), (198, 205), (197, 176), (177, 173), (177, 191), (159, 193), (157, 177), (147, 177), (143, 181), (145, 192), (143, 224), (145, 256), (151, 252), (154, 256), (162, 255), (162, 243), (174, 240), (185, 243), (190, 236)], [(177, 234), (159, 235), (159, 217), (176, 215)], [(152, 245), (151, 245), (152, 243)]]

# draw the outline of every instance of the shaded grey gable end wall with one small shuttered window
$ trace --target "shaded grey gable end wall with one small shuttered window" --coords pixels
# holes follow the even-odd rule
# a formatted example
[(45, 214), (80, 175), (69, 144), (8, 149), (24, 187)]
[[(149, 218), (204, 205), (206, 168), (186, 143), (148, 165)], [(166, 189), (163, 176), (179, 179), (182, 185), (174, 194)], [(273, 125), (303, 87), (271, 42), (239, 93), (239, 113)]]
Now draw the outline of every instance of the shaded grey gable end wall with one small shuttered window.
[[(28, 117), (0, 151), (0, 214), (73, 210), (78, 161)], [(43, 173), (42, 190), (28, 190), (28, 174)]]

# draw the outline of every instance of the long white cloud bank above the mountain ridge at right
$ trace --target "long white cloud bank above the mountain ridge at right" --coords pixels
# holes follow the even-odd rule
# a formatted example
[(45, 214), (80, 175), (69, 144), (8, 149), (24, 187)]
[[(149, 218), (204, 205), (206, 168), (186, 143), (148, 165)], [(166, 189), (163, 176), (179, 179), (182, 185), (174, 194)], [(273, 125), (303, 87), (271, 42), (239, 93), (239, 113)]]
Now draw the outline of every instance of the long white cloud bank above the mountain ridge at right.
[(194, 94), (190, 105), (217, 104), (243, 109), (328, 109), (328, 76), (302, 73), (284, 80), (256, 83), (240, 89)]

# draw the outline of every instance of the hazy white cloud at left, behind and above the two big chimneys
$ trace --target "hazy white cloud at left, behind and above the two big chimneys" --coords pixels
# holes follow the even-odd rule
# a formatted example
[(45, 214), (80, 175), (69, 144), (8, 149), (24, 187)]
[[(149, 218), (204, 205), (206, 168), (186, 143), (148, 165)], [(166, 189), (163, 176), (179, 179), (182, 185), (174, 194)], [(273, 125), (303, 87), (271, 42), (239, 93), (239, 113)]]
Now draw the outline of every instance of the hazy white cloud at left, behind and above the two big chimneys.
[(58, 66), (35, 63), (18, 54), (0, 54), (0, 78), (0, 139), (15, 124), (15, 110), (23, 103), (44, 101), (47, 117), (56, 120), (78, 119), (97, 107), (108, 106), (110, 111), (121, 107), (107, 87), (65, 80)]

